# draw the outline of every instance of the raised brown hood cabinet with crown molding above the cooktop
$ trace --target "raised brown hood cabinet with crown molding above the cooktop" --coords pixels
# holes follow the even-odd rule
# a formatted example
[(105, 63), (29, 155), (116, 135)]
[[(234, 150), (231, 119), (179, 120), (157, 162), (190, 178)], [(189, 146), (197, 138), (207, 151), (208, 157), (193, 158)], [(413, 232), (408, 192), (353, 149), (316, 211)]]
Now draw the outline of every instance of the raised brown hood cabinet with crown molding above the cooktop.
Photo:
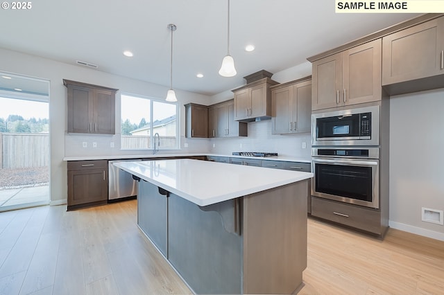
[(270, 78), (262, 78), (234, 89), (234, 120), (244, 122), (256, 118), (271, 118), (271, 90), (278, 84)]

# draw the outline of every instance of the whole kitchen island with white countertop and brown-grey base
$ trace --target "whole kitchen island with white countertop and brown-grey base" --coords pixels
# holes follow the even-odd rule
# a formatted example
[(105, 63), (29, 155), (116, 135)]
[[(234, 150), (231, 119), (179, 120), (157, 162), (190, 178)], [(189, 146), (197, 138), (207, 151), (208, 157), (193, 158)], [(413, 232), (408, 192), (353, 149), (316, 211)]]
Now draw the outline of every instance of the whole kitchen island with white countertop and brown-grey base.
[(137, 223), (196, 294), (291, 294), (307, 267), (313, 176), (191, 159), (114, 163)]

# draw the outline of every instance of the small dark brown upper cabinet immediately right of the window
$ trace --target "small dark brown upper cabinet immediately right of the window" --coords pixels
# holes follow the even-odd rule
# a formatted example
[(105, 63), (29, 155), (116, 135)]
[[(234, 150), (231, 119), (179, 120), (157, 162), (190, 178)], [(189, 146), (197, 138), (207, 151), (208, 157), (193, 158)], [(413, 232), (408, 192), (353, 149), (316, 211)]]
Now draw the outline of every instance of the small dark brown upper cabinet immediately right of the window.
[(185, 105), (185, 136), (208, 137), (208, 107), (189, 103)]

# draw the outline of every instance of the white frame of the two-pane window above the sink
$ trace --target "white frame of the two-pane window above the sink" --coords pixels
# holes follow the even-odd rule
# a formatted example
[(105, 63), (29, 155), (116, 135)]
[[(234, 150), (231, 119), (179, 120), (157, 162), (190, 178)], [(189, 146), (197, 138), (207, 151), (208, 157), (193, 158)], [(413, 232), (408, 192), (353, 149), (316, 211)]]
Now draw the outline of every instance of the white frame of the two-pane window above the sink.
[(134, 98), (142, 98), (142, 99), (147, 99), (150, 101), (150, 129), (153, 130), (153, 102), (161, 102), (167, 105), (175, 105), (176, 106), (176, 147), (171, 147), (171, 148), (161, 148), (159, 150), (180, 150), (180, 108), (179, 108), (179, 103), (178, 102), (168, 102), (166, 100), (160, 99), (160, 98), (155, 98), (152, 96), (143, 96), (143, 95), (139, 95), (139, 94), (135, 94), (135, 93), (129, 93), (129, 92), (123, 92), (123, 91), (119, 91), (120, 93), (120, 150), (121, 151), (130, 151), (130, 150), (154, 150), (153, 146), (154, 146), (154, 135), (153, 132), (151, 132), (150, 136), (150, 146), (151, 148), (122, 148), (121, 146), (121, 138), (122, 138), (122, 96), (131, 96)]

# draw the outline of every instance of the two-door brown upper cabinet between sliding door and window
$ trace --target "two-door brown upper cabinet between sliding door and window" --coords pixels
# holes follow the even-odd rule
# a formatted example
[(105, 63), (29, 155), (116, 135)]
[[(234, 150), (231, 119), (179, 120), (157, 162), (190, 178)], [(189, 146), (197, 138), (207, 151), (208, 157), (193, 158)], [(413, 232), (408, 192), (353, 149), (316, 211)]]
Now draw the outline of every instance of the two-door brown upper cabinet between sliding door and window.
[(68, 132), (115, 134), (118, 89), (63, 80), (68, 96)]

